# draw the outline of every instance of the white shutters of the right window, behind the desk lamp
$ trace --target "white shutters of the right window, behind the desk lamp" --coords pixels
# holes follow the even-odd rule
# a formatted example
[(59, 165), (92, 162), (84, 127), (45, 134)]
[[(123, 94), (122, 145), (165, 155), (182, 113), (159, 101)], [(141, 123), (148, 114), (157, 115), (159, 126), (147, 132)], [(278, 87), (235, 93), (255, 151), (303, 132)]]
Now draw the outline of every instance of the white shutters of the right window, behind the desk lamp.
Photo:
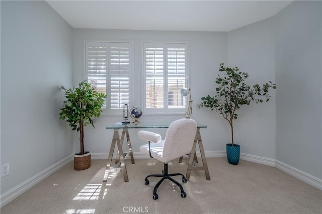
[(187, 44), (143, 43), (144, 111), (185, 112)]

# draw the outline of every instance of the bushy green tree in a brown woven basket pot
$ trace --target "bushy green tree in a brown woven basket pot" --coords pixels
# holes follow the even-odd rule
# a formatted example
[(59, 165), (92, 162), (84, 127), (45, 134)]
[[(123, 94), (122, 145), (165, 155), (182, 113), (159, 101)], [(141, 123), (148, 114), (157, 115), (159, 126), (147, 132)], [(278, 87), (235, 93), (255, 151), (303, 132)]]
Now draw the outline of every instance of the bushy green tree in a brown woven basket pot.
[(91, 124), (94, 127), (93, 117), (101, 115), (107, 95), (95, 91), (86, 80), (79, 83), (78, 87), (61, 88), (65, 91), (67, 100), (64, 101), (64, 108), (60, 109), (59, 119), (66, 119), (72, 130), (80, 134), (81, 151), (74, 154), (74, 169), (87, 169), (91, 166), (91, 153), (84, 150), (84, 126)]

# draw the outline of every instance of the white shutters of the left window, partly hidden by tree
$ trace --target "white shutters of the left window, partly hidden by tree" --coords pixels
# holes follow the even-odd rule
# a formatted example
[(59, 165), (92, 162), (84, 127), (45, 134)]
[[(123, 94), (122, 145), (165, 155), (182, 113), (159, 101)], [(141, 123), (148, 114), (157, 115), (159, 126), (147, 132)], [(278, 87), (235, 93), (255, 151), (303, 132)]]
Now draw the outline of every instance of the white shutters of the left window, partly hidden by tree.
[(121, 113), (130, 101), (131, 43), (86, 42), (86, 76), (96, 91), (108, 96), (106, 113)]

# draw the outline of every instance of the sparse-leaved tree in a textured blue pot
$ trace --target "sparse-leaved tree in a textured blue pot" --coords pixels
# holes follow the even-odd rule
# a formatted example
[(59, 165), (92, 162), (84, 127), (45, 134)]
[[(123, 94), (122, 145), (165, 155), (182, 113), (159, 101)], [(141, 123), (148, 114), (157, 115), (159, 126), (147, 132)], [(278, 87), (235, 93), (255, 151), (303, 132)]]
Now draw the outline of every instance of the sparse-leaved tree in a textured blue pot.
[(240, 146), (234, 144), (233, 141), (233, 120), (238, 117), (236, 112), (241, 105), (249, 105), (252, 100), (261, 103), (263, 102), (261, 98), (265, 98), (268, 101), (271, 97), (268, 93), (269, 89), (275, 89), (276, 85), (269, 81), (269, 83), (263, 84), (263, 87), (258, 84), (249, 86), (244, 82), (248, 77), (247, 73), (240, 72), (238, 67), (224, 67), (224, 63), (220, 63), (219, 71), (223, 72), (223, 75), (219, 74), (216, 78), (215, 95), (201, 97), (202, 102), (198, 106), (199, 108), (202, 106), (210, 108), (211, 111), (215, 110), (228, 121), (231, 129), (231, 143), (226, 144), (227, 159), (230, 164), (238, 164)]

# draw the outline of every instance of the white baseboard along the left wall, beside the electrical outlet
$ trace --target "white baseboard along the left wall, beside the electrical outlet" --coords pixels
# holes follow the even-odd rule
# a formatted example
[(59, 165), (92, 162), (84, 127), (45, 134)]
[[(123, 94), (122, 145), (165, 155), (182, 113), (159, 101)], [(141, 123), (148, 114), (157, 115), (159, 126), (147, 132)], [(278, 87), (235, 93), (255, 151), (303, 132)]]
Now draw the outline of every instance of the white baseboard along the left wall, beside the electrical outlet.
[(51, 175), (52, 173), (56, 172), (57, 170), (61, 169), (67, 163), (72, 161), (73, 154), (69, 155), (68, 157), (62, 159), (61, 161), (57, 162), (56, 164), (52, 165), (51, 167), (43, 170), (42, 172), (38, 173), (37, 175), (33, 176), (32, 178), (26, 180), (25, 182), (19, 184), (18, 186), (14, 187), (13, 189), (5, 192), (0, 196), (0, 206), (3, 207), (4, 205), (8, 204), (16, 197)]

